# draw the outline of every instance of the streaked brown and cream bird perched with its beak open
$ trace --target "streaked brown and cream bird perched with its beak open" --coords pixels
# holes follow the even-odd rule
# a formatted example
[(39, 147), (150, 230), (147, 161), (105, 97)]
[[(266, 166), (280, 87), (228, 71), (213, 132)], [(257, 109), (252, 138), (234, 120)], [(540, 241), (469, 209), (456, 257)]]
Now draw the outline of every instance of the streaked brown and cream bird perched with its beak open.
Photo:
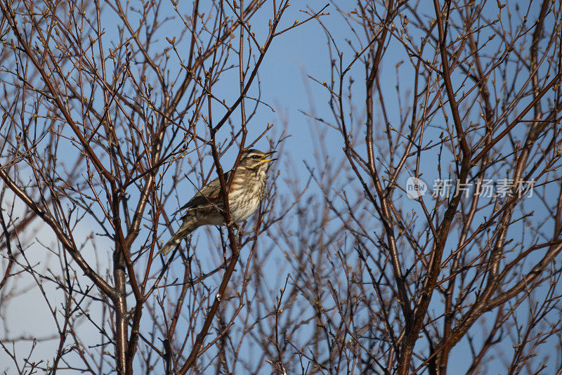
[[(269, 163), (276, 160), (271, 158), (273, 153), (275, 151), (261, 152), (254, 149), (242, 153), (228, 192), (228, 208), (233, 223), (241, 223), (258, 208), (263, 192), (266, 190), (266, 172)], [(232, 171), (223, 174), (227, 184), (230, 173)], [(202, 225), (228, 225), (224, 221), (223, 206), (221, 182), (217, 177), (202, 187), (178, 210), (188, 211), (181, 217), (183, 223), (180, 228), (160, 249), (160, 254), (163, 256), (169, 254), (185, 237)]]

